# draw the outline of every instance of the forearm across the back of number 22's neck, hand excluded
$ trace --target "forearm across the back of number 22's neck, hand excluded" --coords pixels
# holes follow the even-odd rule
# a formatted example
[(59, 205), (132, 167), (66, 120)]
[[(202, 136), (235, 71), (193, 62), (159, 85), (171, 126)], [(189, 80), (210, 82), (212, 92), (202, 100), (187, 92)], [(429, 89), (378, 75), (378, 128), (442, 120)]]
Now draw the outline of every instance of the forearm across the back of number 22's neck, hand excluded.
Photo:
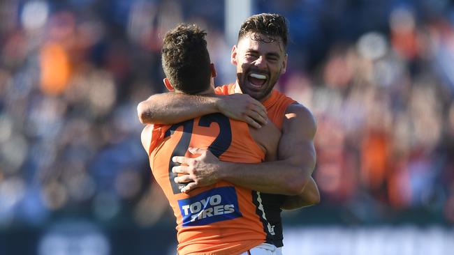
[(141, 123), (173, 124), (218, 112), (217, 99), (217, 95), (161, 93), (140, 102), (137, 112)]

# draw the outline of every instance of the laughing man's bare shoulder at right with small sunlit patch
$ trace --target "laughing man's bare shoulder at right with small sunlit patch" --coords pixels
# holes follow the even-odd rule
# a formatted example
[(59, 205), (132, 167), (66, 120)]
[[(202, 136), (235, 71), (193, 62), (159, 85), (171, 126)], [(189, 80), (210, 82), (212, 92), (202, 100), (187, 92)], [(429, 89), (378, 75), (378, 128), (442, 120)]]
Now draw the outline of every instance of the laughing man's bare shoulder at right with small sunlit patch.
[(314, 137), (316, 133), (314, 114), (304, 105), (295, 102), (288, 105), (284, 114), (283, 132), (302, 132), (306, 136)]

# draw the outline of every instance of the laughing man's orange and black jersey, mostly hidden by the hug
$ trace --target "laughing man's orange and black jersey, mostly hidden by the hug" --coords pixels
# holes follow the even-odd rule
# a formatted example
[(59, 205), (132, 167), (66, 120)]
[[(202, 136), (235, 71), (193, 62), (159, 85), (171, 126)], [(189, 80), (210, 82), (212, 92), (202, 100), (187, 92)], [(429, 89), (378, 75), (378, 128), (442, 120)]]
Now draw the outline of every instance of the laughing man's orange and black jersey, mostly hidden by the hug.
[[(235, 93), (235, 84), (219, 86), (215, 88), (215, 93), (218, 95), (230, 95)], [(279, 130), (282, 130), (282, 123), (284, 122), (284, 114), (288, 107), (296, 101), (288, 98), (283, 93), (273, 90), (270, 98), (262, 102), (268, 112), (268, 118), (276, 125)], [(276, 169), (279, 171), (279, 169)], [(254, 201), (261, 201), (263, 205), (263, 231), (265, 231), (266, 242), (276, 247), (284, 246), (282, 240), (282, 220), (281, 220), (281, 203), (284, 201), (284, 195), (279, 194), (266, 194), (262, 192), (252, 192)]]

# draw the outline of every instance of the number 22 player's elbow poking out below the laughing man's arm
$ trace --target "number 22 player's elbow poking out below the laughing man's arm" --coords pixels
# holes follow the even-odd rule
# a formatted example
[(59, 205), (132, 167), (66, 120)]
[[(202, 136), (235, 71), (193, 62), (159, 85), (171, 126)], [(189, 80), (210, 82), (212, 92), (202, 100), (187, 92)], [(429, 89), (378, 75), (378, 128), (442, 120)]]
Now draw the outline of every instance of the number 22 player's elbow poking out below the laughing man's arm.
[(320, 203), (320, 193), (318, 192), (318, 187), (314, 178), (311, 177), (301, 194), (296, 196), (285, 196), (281, 209), (292, 210), (306, 206), (313, 206), (317, 203)]

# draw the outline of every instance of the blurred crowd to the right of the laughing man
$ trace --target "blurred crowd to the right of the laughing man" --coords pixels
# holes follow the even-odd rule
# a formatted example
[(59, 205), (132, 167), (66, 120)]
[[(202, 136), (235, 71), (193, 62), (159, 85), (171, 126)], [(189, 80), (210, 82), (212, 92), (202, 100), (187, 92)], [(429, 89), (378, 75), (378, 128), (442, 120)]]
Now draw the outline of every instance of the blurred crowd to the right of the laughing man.
[[(323, 203), (350, 212), (347, 222), (393, 222), (406, 210), (439, 217), (426, 223), (454, 220), (454, 30), (443, 16), (453, 9), (425, 2), (388, 6), (386, 20), (358, 24), (355, 40), (322, 42), (323, 61), (306, 61), (281, 82), (314, 111), (315, 179)], [(367, 15), (371, 6), (356, 7)]]

